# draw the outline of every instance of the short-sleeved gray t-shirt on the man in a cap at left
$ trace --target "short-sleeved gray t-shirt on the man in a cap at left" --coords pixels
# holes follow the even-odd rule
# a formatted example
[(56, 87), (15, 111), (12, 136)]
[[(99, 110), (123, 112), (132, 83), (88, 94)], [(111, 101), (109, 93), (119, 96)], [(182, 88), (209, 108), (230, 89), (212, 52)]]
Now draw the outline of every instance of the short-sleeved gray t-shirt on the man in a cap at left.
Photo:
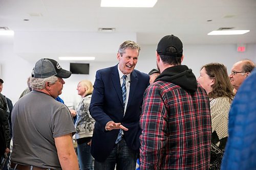
[(61, 169), (54, 138), (76, 132), (67, 106), (34, 90), (14, 105), (12, 129), (12, 162), (53, 169)]

